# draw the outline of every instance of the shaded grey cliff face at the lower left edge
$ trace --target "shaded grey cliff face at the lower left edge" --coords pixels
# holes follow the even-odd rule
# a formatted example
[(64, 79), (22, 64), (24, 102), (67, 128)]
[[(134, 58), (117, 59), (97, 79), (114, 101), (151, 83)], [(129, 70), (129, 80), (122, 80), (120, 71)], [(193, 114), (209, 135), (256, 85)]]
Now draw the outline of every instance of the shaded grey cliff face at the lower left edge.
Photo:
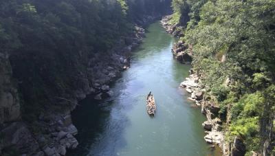
[[(17, 81), (12, 77), (8, 54), (0, 52), (0, 155), (36, 151), (39, 144), (21, 120), (21, 101)], [(17, 146), (14, 148), (14, 146)]]

